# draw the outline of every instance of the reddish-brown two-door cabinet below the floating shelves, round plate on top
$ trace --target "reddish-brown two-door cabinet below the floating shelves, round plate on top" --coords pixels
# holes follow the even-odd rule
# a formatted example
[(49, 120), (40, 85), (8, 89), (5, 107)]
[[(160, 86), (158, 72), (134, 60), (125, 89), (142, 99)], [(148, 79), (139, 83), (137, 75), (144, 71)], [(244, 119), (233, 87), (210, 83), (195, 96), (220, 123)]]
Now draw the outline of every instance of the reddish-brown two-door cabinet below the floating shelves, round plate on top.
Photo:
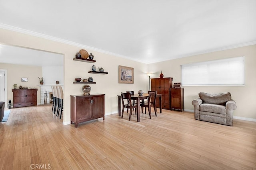
[(105, 94), (70, 95), (70, 119), (75, 127), (78, 123), (97, 119), (105, 119)]

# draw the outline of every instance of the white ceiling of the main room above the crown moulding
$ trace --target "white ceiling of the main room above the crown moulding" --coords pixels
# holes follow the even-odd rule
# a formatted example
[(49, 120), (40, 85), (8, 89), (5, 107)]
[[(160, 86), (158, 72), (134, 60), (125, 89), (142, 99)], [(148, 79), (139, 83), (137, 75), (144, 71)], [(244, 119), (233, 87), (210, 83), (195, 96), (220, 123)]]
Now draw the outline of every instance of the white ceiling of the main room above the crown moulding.
[(256, 44), (256, 0), (0, 0), (0, 22), (142, 63)]

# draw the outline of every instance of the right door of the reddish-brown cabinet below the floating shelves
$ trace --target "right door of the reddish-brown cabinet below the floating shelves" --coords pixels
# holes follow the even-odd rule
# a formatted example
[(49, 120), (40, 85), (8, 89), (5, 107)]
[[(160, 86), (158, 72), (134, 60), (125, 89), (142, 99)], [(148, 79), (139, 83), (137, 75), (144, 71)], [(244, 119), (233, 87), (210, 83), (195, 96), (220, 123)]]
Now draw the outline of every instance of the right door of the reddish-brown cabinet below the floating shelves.
[(96, 117), (103, 117), (105, 114), (105, 110), (104, 110), (104, 105), (105, 105), (105, 101), (104, 101), (104, 95), (102, 96), (92, 96), (92, 117), (96, 118)]

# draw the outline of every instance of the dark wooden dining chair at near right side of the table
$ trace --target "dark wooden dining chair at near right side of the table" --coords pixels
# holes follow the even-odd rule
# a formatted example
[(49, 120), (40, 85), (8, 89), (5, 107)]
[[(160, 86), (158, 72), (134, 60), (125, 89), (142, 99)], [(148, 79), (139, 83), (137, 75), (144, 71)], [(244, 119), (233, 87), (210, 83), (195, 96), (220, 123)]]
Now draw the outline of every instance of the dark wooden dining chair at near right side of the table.
[(145, 114), (148, 108), (148, 113), (149, 113), (149, 117), (151, 119), (151, 107), (154, 107), (154, 111), (155, 111), (155, 115), (156, 114), (156, 92), (148, 92), (148, 102), (141, 102), (140, 106), (141, 106), (141, 110), (143, 113), (143, 107), (145, 107)]

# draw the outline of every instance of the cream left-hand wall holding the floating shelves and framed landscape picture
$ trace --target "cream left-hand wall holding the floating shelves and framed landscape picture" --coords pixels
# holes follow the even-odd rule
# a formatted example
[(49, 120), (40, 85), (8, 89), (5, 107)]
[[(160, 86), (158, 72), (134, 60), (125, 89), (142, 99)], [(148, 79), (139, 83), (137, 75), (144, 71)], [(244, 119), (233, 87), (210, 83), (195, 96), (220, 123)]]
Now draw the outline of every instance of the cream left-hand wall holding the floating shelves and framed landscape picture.
[[(64, 55), (64, 113), (63, 123), (70, 123), (70, 95), (83, 94), (82, 87), (85, 84), (73, 84), (74, 78), (81, 77), (82, 79), (92, 77), (96, 84), (90, 84), (93, 93), (103, 93), (105, 95), (105, 114), (117, 113), (118, 101), (117, 95), (127, 90), (148, 90), (148, 76), (146, 74), (148, 65), (123, 59), (113, 55), (100, 53), (93, 50), (88, 50), (88, 53), (94, 55), (96, 63), (84, 63), (73, 61), (76, 53), (83, 49), (73, 45), (58, 43), (56, 41), (47, 40), (44, 38), (34, 37), (15, 31), (0, 29), (0, 43), (7, 45), (17, 45), (19, 47), (28, 47), (39, 49)], [(24, 41), (26, 39), (26, 41)], [(96, 68), (103, 67), (108, 74), (89, 74), (92, 65)], [(118, 65), (134, 68), (134, 84), (119, 84), (118, 83)], [(38, 79), (38, 76), (37, 76)], [(55, 79), (54, 79), (55, 80)], [(62, 83), (61, 83), (62, 84)]]

